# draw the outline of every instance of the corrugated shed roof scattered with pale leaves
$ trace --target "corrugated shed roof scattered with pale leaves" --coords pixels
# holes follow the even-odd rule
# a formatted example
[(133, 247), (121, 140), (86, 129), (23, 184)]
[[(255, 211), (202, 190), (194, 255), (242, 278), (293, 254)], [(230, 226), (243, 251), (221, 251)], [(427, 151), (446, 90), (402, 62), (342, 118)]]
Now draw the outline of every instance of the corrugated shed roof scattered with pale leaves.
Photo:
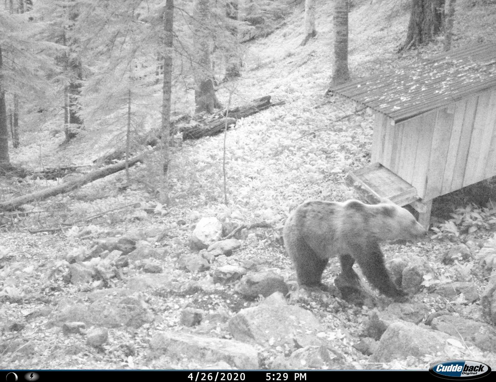
[(496, 87), (496, 44), (475, 44), (329, 92), (360, 102), (395, 123)]

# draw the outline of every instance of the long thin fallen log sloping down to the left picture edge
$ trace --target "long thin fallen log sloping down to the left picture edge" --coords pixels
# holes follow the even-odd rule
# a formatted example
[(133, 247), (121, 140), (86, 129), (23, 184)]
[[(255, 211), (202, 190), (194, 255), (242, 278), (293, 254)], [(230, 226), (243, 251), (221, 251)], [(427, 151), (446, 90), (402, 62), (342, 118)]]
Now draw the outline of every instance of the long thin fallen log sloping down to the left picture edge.
[[(127, 165), (133, 166), (138, 162), (141, 162), (144, 158), (144, 156), (147, 153), (142, 153), (134, 158), (130, 158), (127, 162)], [(3, 203), (0, 203), (0, 210), (1, 211), (12, 211), (16, 209), (17, 207), (30, 203), (34, 200), (44, 200), (50, 196), (55, 196), (60, 193), (65, 193), (69, 192), (75, 189), (80, 188), (81, 186), (84, 186), (88, 183), (91, 183), (93, 181), (96, 181), (97, 179), (100, 178), (105, 178), (108, 175), (117, 173), (119, 171), (122, 171), (125, 169), (125, 162), (120, 162), (115, 165), (107, 166), (99, 170), (92, 171), (86, 175), (81, 175), (81, 177), (67, 183), (62, 183), (61, 185), (45, 189), (42, 191), (37, 191), (37, 192), (32, 192), (27, 195), (19, 196), (16, 198), (13, 198), (9, 201), (5, 201)]]

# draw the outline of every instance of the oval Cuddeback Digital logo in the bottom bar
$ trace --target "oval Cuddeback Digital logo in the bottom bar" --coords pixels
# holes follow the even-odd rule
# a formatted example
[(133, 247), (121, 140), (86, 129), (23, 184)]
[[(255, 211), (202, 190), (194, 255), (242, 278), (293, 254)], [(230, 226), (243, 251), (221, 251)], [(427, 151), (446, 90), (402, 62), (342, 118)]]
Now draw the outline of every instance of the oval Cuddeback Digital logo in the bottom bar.
[(431, 374), (447, 380), (472, 380), (481, 378), (491, 373), (491, 368), (476, 361), (446, 361), (435, 364), (429, 369)]

